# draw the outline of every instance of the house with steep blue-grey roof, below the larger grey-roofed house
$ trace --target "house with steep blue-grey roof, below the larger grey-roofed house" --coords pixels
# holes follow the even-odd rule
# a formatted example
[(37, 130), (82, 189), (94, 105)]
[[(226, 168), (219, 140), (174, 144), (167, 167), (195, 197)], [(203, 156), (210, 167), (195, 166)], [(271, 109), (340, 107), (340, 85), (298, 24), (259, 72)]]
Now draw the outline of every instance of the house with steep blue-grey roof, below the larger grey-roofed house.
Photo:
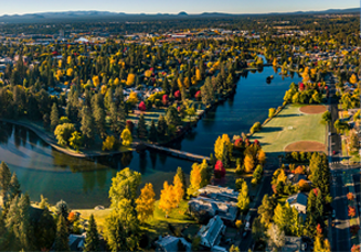
[(220, 244), (221, 238), (225, 232), (225, 226), (219, 216), (210, 219), (206, 226), (203, 226), (198, 235), (201, 237), (201, 245), (213, 248)]

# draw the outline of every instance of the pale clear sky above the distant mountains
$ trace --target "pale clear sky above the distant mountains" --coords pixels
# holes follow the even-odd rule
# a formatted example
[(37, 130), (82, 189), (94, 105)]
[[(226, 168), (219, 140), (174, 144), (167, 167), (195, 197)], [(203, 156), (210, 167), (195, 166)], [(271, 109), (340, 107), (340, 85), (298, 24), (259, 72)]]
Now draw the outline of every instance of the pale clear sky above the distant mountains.
[(359, 0), (0, 0), (0, 15), (77, 10), (126, 13), (268, 13), (358, 7)]

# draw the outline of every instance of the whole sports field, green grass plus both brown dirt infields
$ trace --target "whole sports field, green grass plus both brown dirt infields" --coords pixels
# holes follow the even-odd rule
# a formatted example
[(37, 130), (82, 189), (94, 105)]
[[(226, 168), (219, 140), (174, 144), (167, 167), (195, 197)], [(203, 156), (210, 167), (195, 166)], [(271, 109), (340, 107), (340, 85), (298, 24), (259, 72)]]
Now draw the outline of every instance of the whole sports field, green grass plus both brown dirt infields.
[(287, 106), (252, 139), (265, 152), (325, 151), (326, 124), (320, 122), (325, 110), (325, 106)]

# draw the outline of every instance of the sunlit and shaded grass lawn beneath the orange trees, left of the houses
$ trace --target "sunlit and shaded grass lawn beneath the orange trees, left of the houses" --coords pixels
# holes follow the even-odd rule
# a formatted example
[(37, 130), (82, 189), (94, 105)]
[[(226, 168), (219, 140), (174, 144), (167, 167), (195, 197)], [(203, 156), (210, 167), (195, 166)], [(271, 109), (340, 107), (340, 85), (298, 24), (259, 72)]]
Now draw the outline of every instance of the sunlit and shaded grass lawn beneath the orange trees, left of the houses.
[(169, 224), (173, 227), (174, 230), (181, 231), (187, 226), (190, 226), (190, 230), (187, 230), (190, 234), (197, 233), (199, 230), (199, 224), (185, 215), (188, 209), (188, 201), (183, 200), (180, 202), (179, 208), (174, 208), (166, 218), (164, 212), (158, 208), (159, 200), (156, 201), (153, 218), (149, 219), (142, 229), (148, 233), (150, 240), (157, 238), (161, 234), (173, 234), (169, 229)]

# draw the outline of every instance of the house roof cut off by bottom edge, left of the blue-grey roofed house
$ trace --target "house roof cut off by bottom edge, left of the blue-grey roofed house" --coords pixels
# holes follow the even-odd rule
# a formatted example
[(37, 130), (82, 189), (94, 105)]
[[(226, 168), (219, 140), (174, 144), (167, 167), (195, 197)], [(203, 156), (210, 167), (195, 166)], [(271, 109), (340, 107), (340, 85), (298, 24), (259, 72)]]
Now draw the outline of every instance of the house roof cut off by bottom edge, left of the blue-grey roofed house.
[[(158, 252), (173, 252), (173, 251), (191, 251), (191, 243), (185, 241), (184, 238), (177, 238), (177, 237), (159, 237), (158, 241), (156, 241)], [(182, 248), (179, 248), (182, 246)]]

